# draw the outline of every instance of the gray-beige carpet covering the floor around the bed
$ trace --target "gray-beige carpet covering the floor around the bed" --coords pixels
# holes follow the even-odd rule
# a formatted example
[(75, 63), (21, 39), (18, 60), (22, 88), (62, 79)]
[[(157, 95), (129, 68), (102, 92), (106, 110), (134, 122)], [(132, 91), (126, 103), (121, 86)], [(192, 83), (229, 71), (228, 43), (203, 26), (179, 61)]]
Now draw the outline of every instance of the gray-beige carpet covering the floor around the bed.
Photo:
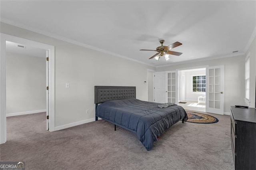
[(214, 117), (218, 123), (176, 123), (150, 151), (136, 134), (103, 120), (48, 132), (45, 113), (8, 117), (0, 161), (25, 162), (26, 170), (230, 170), (230, 117)]

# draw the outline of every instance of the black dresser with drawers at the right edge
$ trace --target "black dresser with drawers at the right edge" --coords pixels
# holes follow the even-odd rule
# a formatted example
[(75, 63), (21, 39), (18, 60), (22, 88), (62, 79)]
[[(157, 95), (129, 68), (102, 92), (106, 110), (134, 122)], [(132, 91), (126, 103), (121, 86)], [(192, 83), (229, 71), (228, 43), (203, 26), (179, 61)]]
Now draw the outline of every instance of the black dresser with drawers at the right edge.
[(256, 109), (231, 106), (231, 148), (236, 170), (256, 170)]

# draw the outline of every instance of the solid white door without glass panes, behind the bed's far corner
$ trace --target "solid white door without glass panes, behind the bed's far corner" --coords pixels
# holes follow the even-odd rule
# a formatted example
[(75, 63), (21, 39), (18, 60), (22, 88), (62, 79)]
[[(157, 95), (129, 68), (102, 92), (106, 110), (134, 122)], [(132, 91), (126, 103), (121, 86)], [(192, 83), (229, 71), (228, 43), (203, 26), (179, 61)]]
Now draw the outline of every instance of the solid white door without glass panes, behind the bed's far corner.
[(154, 73), (154, 102), (166, 103), (166, 72)]

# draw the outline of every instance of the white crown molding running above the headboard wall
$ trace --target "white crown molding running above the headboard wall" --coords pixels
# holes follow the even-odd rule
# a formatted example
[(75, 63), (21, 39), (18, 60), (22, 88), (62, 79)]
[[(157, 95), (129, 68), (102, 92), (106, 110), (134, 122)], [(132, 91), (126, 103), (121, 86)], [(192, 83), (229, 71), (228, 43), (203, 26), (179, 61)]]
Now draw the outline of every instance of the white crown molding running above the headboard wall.
[(36, 28), (32, 28), (30, 26), (27, 26), (25, 24), (22, 24), (22, 23), (18, 23), (18, 22), (13, 22), (11, 20), (8, 20), (8, 19), (5, 19), (5, 18), (0, 18), (0, 22), (3, 22), (3, 23), (6, 23), (6, 24), (9, 24), (9, 25), (12, 25), (12, 26), (16, 26), (16, 27), (19, 27), (19, 28), (23, 28), (25, 30), (29, 30), (29, 31), (32, 31), (32, 32), (36, 32), (38, 34), (42, 34), (44, 36), (48, 36), (48, 37), (51, 37), (51, 38), (55, 38), (57, 40), (62, 40), (64, 42), (68, 42), (68, 43), (72, 43), (72, 44), (75, 44), (75, 45), (79, 45), (79, 46), (82, 46), (82, 47), (86, 47), (86, 48), (89, 48), (89, 49), (93, 49), (95, 51), (100, 51), (102, 53), (106, 53), (106, 54), (110, 54), (110, 55), (114, 55), (116, 57), (120, 57), (120, 58), (123, 58), (123, 59), (127, 59), (127, 60), (130, 60), (130, 61), (134, 61), (136, 63), (140, 63), (140, 64), (144, 64), (144, 65), (148, 65), (148, 66), (151, 66), (151, 67), (156, 67), (155, 65), (152, 65), (152, 64), (149, 64), (149, 63), (144, 63), (142, 61), (138, 61), (136, 59), (131, 59), (129, 57), (125, 57), (123, 55), (120, 55), (120, 54), (117, 54), (117, 53), (114, 53), (114, 52), (111, 52), (111, 51), (107, 51), (105, 49), (101, 49), (101, 48), (98, 48), (98, 47), (94, 47), (92, 45), (88, 45), (86, 43), (81, 43), (81, 42), (78, 42), (78, 41), (75, 41), (75, 40), (72, 40), (72, 39), (69, 39), (69, 38), (65, 38), (65, 37), (62, 37), (62, 36), (58, 36), (56, 34), (52, 34), (50, 32), (46, 32), (46, 31), (43, 31), (43, 30), (40, 30), (40, 29), (36, 29)]

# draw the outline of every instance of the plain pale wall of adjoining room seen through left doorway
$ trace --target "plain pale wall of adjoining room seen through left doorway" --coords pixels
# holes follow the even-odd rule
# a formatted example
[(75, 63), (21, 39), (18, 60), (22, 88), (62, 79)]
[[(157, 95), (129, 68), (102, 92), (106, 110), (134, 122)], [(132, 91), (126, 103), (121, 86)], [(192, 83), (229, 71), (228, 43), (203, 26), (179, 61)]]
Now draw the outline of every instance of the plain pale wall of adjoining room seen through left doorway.
[(6, 116), (45, 109), (45, 58), (6, 52)]

